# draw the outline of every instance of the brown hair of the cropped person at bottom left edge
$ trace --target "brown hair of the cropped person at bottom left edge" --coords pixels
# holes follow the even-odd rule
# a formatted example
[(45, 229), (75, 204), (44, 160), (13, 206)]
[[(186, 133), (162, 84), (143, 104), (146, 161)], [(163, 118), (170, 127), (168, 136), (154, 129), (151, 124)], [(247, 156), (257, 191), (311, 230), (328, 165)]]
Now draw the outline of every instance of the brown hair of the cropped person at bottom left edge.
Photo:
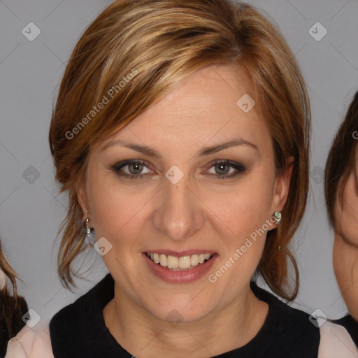
[(25, 325), (22, 316), (28, 308), (24, 298), (17, 295), (16, 279), (19, 277), (3, 255), (1, 241), (0, 270), (5, 273), (13, 286), (13, 292), (10, 292), (7, 285), (0, 288), (0, 357), (4, 357), (8, 341), (15, 337)]

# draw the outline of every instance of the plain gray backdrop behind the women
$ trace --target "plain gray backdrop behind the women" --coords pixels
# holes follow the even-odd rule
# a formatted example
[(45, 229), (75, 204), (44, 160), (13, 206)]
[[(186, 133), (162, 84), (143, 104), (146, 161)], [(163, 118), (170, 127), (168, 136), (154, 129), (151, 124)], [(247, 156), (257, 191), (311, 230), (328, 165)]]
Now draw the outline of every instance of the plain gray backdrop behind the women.
[[(92, 252), (88, 281), (71, 294), (57, 278), (55, 240), (66, 213), (58, 195), (48, 146), (52, 104), (67, 60), (92, 20), (109, 0), (0, 1), (0, 238), (6, 257), (24, 280), (19, 292), (43, 320), (82, 295), (105, 275)], [(324, 207), (323, 169), (331, 140), (358, 90), (357, 0), (262, 0), (252, 5), (278, 24), (306, 78), (313, 115), (310, 197), (294, 237), (301, 274), (293, 306), (327, 316), (346, 313), (331, 264), (333, 232)], [(41, 34), (22, 34), (34, 22)], [(320, 22), (320, 41), (309, 29)], [(317, 27), (317, 26), (316, 26)], [(315, 36), (322, 36), (320, 27)], [(31, 27), (33, 35), (34, 28)], [(283, 218), (285, 220), (285, 218)], [(90, 268), (90, 265), (87, 265)]]

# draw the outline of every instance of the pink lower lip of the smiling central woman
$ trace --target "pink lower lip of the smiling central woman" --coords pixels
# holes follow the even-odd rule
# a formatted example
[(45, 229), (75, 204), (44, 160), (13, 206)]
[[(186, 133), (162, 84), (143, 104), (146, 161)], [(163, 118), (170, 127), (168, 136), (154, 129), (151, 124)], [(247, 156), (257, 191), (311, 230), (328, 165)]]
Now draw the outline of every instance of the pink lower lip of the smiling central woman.
[(207, 262), (204, 262), (203, 264), (198, 264), (197, 266), (194, 266), (189, 270), (171, 271), (169, 270), (169, 268), (163, 267), (160, 264), (155, 264), (155, 262), (153, 262), (144, 252), (142, 255), (152, 273), (154, 273), (158, 278), (162, 279), (163, 281), (171, 283), (187, 283), (198, 280), (203, 275), (208, 273), (208, 271), (210, 271), (211, 266), (213, 266), (215, 259), (217, 259), (218, 257), (218, 255), (215, 254)]

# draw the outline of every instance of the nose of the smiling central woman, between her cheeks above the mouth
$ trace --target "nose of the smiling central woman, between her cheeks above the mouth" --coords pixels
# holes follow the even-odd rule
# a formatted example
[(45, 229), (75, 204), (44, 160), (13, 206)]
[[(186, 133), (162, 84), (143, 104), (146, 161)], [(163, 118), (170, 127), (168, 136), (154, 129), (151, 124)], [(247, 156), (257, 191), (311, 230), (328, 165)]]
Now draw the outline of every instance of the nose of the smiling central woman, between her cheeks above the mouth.
[(183, 241), (203, 227), (205, 206), (185, 176), (175, 185), (164, 178), (159, 195), (159, 206), (153, 215), (155, 229), (174, 241)]

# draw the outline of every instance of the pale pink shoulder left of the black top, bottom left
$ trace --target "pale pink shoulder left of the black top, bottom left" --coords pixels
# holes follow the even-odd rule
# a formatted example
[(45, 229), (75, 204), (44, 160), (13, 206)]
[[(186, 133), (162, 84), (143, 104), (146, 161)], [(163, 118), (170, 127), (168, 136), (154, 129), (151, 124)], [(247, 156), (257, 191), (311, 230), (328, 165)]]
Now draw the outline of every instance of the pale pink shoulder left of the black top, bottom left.
[(53, 358), (48, 325), (36, 329), (25, 326), (8, 341), (5, 358)]

